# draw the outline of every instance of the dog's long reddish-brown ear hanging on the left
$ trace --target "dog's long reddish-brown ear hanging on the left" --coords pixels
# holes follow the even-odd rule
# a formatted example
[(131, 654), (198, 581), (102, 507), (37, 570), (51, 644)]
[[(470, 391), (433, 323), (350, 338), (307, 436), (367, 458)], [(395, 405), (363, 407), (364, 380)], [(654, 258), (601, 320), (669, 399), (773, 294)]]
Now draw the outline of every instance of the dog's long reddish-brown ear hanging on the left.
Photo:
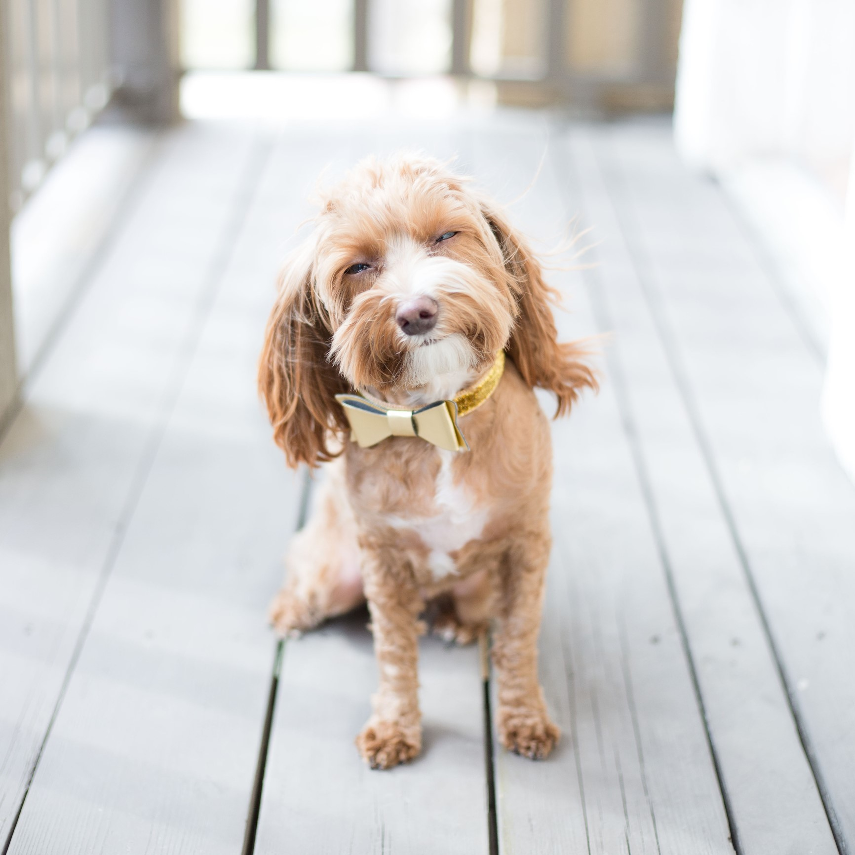
[(330, 448), (330, 440), (347, 427), (335, 400), (347, 388), (327, 361), (332, 331), (312, 286), (313, 257), (309, 242), (287, 258), (258, 366), (258, 390), (274, 439), (292, 467), (315, 467), (336, 457), (340, 452)]

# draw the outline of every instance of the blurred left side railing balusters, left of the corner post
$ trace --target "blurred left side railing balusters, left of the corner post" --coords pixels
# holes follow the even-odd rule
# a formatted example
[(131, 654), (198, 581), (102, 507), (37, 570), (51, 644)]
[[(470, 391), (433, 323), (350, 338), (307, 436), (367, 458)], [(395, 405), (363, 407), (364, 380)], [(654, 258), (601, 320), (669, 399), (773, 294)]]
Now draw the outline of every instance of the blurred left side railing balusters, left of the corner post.
[(4, 6), (9, 203), (16, 210), (109, 99), (109, 0)]

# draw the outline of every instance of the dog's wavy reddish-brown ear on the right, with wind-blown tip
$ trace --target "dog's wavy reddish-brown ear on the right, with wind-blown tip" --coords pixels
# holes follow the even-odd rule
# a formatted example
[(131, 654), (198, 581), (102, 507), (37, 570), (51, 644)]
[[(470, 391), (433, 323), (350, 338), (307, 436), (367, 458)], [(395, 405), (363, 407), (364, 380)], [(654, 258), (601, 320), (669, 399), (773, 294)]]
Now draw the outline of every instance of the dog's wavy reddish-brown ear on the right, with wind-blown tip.
[(593, 370), (585, 361), (587, 351), (579, 342), (557, 340), (551, 307), (558, 303), (560, 295), (545, 283), (543, 269), (528, 240), (492, 203), (482, 202), (481, 211), (498, 240), (519, 310), (508, 352), (529, 386), (555, 393), (558, 399), (555, 415), (562, 416), (569, 412), (581, 389), (598, 387)]

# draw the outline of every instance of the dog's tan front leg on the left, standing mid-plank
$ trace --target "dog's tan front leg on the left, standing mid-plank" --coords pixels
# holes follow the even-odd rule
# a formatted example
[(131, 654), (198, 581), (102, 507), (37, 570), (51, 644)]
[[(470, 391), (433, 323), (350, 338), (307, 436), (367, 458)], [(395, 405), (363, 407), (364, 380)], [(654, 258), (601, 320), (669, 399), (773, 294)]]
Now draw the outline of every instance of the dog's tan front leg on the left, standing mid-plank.
[(357, 748), (372, 769), (391, 769), (422, 750), (418, 616), (424, 603), (415, 585), (387, 574), (369, 551), (363, 572), (380, 687), (371, 699), (374, 713), (357, 736)]

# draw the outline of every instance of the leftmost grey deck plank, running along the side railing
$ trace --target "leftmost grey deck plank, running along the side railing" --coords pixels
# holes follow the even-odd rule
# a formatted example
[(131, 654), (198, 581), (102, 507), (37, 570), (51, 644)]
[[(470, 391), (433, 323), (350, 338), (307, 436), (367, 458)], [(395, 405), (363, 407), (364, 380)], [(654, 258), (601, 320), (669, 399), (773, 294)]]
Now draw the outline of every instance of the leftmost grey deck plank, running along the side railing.
[(0, 446), (0, 840), (177, 392), (250, 154), (246, 133), (165, 140)]

